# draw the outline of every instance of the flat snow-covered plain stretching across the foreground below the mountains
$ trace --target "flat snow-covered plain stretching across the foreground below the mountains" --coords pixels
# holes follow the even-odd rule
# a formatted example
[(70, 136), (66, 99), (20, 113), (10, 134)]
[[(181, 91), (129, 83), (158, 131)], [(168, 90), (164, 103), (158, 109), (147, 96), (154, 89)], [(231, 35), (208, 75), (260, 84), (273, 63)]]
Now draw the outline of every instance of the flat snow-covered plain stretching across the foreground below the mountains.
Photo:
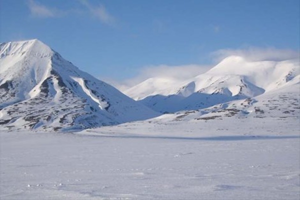
[(0, 199), (299, 199), (299, 122), (266, 120), (2, 131)]

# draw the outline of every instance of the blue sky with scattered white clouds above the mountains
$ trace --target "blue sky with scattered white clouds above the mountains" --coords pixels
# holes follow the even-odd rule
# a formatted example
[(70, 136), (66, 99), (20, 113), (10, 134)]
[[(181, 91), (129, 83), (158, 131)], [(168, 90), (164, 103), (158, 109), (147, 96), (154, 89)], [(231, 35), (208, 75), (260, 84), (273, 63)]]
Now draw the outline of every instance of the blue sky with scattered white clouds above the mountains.
[(0, 0), (0, 42), (37, 38), (115, 84), (195, 76), (232, 54), (291, 58), (299, 24), (300, 0)]

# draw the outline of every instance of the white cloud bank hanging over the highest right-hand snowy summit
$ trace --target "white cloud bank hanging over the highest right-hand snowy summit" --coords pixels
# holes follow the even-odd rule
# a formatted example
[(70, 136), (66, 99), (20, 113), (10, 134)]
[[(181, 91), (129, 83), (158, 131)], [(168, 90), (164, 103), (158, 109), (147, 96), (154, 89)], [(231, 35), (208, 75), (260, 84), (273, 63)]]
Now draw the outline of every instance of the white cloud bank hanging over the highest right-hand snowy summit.
[(260, 60), (274, 60), (281, 61), (293, 58), (299, 58), (299, 51), (291, 49), (278, 49), (278, 48), (260, 48), (260, 47), (248, 47), (243, 49), (219, 49), (214, 51), (211, 56), (214, 60), (220, 61), (221, 59), (230, 56), (237, 55), (242, 56), (249, 61)]

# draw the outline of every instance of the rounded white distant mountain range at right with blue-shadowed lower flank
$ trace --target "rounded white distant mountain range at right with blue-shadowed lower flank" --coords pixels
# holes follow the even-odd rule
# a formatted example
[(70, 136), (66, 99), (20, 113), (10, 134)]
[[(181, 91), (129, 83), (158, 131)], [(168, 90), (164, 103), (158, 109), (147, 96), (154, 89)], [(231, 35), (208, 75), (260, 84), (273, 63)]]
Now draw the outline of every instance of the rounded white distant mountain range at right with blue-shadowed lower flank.
[[(166, 84), (152, 78), (124, 93), (159, 112), (195, 110), (275, 90), (294, 78), (298, 80), (299, 70), (297, 59), (247, 61), (240, 56), (229, 56), (184, 82)], [(155, 82), (149, 84), (151, 81)], [(163, 89), (157, 90), (157, 85)]]

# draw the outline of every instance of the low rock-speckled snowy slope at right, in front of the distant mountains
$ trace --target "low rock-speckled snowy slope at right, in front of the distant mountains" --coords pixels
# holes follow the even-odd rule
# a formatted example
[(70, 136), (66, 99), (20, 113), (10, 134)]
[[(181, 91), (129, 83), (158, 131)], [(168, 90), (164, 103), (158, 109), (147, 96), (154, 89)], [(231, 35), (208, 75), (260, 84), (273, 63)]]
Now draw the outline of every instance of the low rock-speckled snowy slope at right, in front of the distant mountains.
[[(228, 118), (232, 118), (228, 122)], [(257, 124), (257, 120), (266, 124), (277, 126), (278, 121), (293, 123), (298, 126), (300, 121), (300, 75), (297, 75), (284, 86), (265, 92), (255, 97), (228, 101), (213, 106), (197, 109), (178, 111), (171, 114), (164, 114), (154, 119), (154, 122), (207, 122), (221, 123), (227, 121), (234, 126), (232, 121), (240, 123), (247, 120), (249, 124)], [(255, 122), (254, 122), (255, 121)], [(277, 121), (277, 122), (276, 122)], [(285, 127), (287, 128), (287, 127)]]

